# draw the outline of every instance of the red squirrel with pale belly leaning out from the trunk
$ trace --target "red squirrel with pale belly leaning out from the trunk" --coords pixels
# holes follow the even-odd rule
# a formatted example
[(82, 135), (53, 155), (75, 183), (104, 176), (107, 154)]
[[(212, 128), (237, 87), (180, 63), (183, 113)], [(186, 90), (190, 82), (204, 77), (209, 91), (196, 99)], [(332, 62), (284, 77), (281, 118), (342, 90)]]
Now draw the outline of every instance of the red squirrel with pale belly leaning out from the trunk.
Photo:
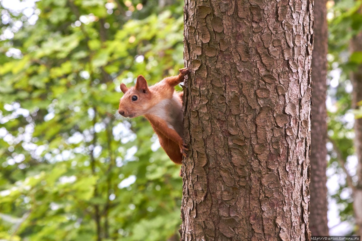
[(187, 156), (187, 145), (183, 141), (182, 96), (174, 87), (184, 81), (189, 68), (180, 69), (178, 76), (164, 78), (155, 85), (148, 86), (146, 79), (139, 75), (136, 85), (127, 88), (121, 83), (122, 98), (118, 113), (124, 117), (144, 116), (159, 137), (160, 145), (172, 162), (181, 164), (182, 155)]

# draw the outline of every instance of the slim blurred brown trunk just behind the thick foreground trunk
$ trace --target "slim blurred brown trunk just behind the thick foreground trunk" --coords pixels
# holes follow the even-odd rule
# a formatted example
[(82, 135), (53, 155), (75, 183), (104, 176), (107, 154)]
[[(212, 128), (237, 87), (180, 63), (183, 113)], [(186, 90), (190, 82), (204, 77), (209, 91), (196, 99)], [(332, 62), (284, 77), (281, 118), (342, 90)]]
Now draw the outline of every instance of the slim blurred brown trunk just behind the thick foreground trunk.
[(312, 118), (311, 118), (311, 213), (312, 235), (328, 235), (327, 220), (327, 0), (314, 1), (314, 48), (312, 54)]

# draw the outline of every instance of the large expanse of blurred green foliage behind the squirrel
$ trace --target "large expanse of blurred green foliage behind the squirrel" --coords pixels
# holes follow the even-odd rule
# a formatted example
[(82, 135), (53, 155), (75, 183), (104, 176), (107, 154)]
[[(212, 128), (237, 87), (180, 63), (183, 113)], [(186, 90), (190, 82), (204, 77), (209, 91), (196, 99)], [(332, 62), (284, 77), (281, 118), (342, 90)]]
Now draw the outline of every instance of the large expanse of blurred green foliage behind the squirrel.
[(182, 5), (41, 0), (33, 17), (1, 7), (0, 239), (178, 232), (180, 166), (146, 120), (113, 114), (121, 82), (152, 84), (183, 66)]

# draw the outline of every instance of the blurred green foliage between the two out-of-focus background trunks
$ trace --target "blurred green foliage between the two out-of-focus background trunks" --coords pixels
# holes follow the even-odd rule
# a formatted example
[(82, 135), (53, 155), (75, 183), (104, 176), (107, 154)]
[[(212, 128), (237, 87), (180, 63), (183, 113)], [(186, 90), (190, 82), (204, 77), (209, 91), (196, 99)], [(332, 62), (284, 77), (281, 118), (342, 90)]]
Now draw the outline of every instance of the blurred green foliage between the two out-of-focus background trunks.
[[(334, 193), (329, 193), (336, 202), (341, 221), (354, 223), (353, 200), (351, 189), (345, 181), (344, 170), (341, 165), (346, 162), (347, 167), (353, 167), (356, 163), (354, 155), (354, 130), (353, 119), (362, 115), (361, 109), (352, 110), (352, 83), (349, 80), (350, 73), (361, 68), (362, 52), (350, 53), (350, 40), (362, 31), (362, 14), (360, 12), (362, 1), (336, 0), (328, 1), (329, 24), (329, 61), (328, 76), (328, 137), (331, 145), (327, 145), (329, 151), (329, 177), (336, 180)], [(349, 168), (350, 175), (355, 173), (354, 168)], [(332, 178), (334, 176), (334, 178)], [(355, 179), (354, 179), (355, 180)], [(351, 228), (351, 234), (355, 229)], [(345, 233), (348, 235), (348, 233)]]

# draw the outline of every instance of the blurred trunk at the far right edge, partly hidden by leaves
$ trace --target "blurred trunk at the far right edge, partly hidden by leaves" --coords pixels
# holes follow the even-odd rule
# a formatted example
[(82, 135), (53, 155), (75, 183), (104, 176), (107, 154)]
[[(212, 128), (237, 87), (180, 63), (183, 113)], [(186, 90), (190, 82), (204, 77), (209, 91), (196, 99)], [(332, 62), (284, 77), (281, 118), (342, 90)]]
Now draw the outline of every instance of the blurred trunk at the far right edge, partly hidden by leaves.
[[(362, 33), (352, 38), (350, 46), (352, 52), (362, 51)], [(357, 70), (351, 74), (351, 81), (353, 83), (353, 106), (357, 107), (357, 102), (362, 101), (362, 65), (358, 66)], [(362, 119), (355, 119), (354, 132), (355, 151), (358, 159), (358, 181), (353, 189), (353, 206), (358, 229), (357, 235), (362, 236)]]

